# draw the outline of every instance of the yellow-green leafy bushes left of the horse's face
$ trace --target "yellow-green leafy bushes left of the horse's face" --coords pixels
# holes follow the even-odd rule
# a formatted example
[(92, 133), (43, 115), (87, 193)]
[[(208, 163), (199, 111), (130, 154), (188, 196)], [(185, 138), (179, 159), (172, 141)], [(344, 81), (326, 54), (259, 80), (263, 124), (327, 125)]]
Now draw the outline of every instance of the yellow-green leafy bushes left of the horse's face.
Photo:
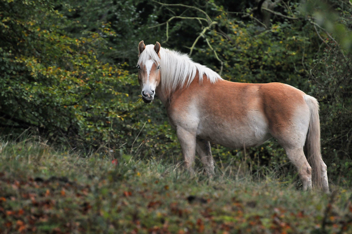
[(50, 7), (2, 3), (7, 7), (2, 13), (14, 11), (2, 21), (2, 35), (8, 36), (0, 50), (2, 127), (38, 126), (52, 140), (82, 147), (117, 142), (116, 131), (133, 107), (124, 87), (135, 81), (126, 63), (98, 60), (104, 35), (113, 33), (101, 30), (71, 38), (51, 24), (62, 16)]

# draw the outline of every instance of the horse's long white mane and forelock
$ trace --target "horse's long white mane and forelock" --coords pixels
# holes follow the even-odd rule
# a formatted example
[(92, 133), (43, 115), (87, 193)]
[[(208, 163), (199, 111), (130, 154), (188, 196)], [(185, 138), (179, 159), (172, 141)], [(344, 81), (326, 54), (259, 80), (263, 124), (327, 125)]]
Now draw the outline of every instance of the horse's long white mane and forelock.
[(172, 92), (184, 84), (189, 86), (197, 71), (200, 82), (203, 80), (203, 75), (206, 75), (211, 83), (222, 80), (218, 73), (193, 62), (186, 54), (164, 48), (160, 48), (159, 54), (161, 58), (154, 51), (154, 45), (147, 45), (139, 56), (138, 64), (145, 64), (149, 59), (152, 59), (156, 65), (160, 65), (161, 84), (167, 92)]

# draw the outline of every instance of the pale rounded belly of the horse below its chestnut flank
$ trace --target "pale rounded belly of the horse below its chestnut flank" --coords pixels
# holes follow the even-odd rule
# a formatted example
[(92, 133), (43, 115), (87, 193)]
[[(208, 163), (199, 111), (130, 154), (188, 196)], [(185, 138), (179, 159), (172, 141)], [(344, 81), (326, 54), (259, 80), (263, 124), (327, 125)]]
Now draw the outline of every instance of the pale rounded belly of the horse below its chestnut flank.
[(244, 119), (235, 116), (227, 120), (219, 116), (203, 117), (197, 136), (231, 148), (256, 146), (271, 138), (268, 124), (258, 111), (249, 111)]

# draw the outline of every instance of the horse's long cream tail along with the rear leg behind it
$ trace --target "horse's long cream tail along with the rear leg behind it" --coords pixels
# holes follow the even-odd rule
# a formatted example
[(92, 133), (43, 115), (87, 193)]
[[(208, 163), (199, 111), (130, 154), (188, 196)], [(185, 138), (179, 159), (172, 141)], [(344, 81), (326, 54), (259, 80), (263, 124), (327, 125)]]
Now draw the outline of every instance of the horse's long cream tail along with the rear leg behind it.
[(320, 152), (319, 103), (309, 95), (305, 95), (304, 100), (306, 100), (310, 112), (305, 150), (308, 163), (312, 167), (312, 183), (315, 188), (328, 192), (326, 165)]

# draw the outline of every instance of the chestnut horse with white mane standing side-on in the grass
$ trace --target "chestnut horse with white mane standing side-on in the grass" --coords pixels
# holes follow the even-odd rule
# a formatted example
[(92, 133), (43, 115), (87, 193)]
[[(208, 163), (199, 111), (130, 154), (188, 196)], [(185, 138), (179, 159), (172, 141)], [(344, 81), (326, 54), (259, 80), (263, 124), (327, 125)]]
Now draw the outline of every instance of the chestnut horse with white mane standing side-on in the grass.
[(209, 141), (234, 148), (256, 146), (274, 137), (296, 166), (303, 190), (312, 189), (313, 175), (313, 185), (329, 191), (320, 153), (319, 105), (314, 97), (282, 83), (223, 80), (187, 55), (161, 48), (158, 42), (145, 46), (141, 41), (138, 49), (142, 98), (149, 103), (157, 94), (165, 105), (190, 172), (194, 173), (196, 151), (206, 173), (214, 173)]

